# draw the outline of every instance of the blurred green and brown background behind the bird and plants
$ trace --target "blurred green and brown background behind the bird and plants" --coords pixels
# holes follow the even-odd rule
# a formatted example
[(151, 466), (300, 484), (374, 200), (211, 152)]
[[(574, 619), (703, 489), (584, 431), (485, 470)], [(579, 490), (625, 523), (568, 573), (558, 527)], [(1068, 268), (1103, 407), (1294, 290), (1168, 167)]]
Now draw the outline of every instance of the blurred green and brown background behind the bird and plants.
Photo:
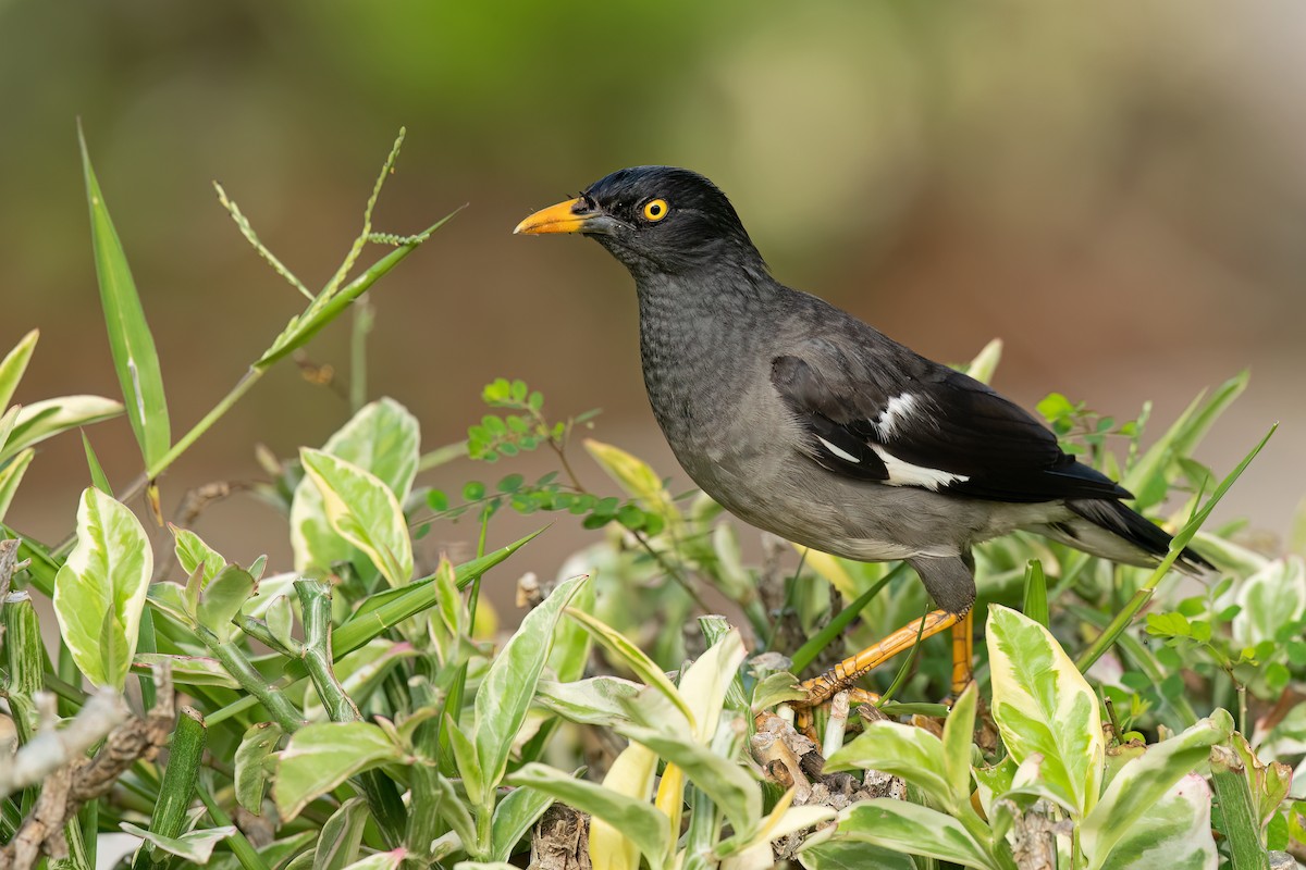
[[(597, 437), (683, 489), (643, 395), (624, 271), (581, 239), (509, 235), (611, 170), (682, 164), (731, 196), (782, 280), (936, 359), (1003, 338), (996, 386), (1027, 407), (1059, 390), (1124, 419), (1151, 398), (1156, 430), (1252, 367), (1202, 453), (1224, 473), (1281, 420), (1221, 515), (1282, 533), (1306, 493), (1303, 30), (1296, 0), (0, 0), (0, 344), (42, 329), (18, 400), (118, 394), (80, 116), (180, 434), (302, 304), (210, 180), (319, 286), (406, 125), (377, 228), (470, 207), (375, 295), (372, 394), (436, 446), (479, 416), (481, 385), (524, 377), (555, 413), (602, 407)], [(343, 374), (346, 338), (324, 334), (312, 360)], [(290, 455), (346, 416), (338, 389), (281, 367), (167, 475), (165, 514), (192, 487), (259, 476), (256, 441)], [(125, 485), (127, 423), (91, 436)], [(547, 467), (461, 463), (432, 483)], [(10, 522), (61, 537), (85, 480), (76, 438), (47, 443)], [(549, 558), (580, 540), (559, 526)], [(287, 552), (247, 497), (196, 528), (240, 561)]]

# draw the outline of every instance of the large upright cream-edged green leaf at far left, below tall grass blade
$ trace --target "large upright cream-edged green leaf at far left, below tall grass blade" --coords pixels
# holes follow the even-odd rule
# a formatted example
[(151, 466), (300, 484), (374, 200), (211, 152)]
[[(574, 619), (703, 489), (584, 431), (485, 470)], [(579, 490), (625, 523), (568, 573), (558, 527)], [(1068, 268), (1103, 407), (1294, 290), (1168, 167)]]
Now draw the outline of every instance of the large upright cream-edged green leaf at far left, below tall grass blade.
[(154, 554), (136, 515), (98, 489), (77, 507), (77, 544), (55, 575), (55, 616), (77, 668), (118, 691), (136, 652)]

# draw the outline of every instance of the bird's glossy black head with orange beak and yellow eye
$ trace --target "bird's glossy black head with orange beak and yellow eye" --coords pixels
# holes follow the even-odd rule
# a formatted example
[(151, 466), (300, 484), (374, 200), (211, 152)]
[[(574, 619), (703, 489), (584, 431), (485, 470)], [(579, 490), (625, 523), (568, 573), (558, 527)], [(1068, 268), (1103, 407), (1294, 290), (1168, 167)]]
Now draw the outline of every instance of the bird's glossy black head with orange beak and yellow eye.
[(763, 267), (726, 194), (697, 172), (670, 166), (618, 170), (515, 232), (592, 236), (636, 278), (725, 263)]

